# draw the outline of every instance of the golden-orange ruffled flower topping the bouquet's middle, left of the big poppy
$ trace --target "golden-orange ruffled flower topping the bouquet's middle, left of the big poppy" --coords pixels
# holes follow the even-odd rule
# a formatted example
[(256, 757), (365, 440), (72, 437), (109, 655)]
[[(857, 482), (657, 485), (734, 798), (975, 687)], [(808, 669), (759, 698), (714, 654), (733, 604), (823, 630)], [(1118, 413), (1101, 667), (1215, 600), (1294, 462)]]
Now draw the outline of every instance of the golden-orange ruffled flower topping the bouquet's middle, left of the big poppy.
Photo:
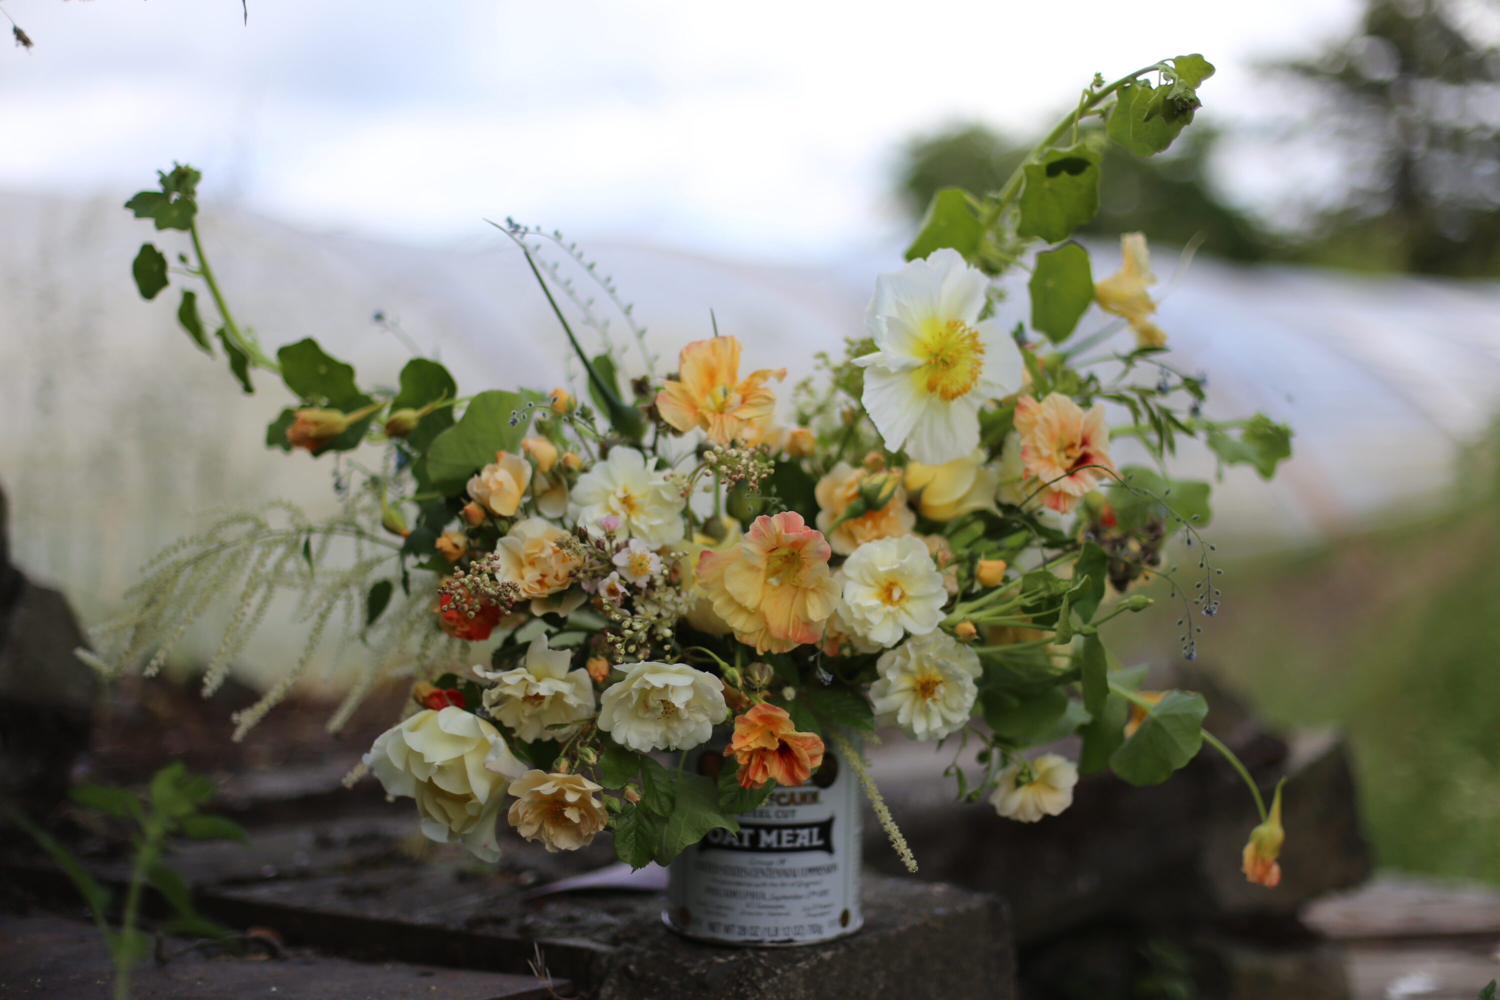
[(786, 369), (759, 369), (740, 379), (740, 340), (694, 340), (678, 358), (682, 381), (668, 379), (657, 393), (662, 418), (681, 432), (700, 427), (714, 444), (752, 436), (771, 418), (776, 393), (765, 381), (786, 378)]

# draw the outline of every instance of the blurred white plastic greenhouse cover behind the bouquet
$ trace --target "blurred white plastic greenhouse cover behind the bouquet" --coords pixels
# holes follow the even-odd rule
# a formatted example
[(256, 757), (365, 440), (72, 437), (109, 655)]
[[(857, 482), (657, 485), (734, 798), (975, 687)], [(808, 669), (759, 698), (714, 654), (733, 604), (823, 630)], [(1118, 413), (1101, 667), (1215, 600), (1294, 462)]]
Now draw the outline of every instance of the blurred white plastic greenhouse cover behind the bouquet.
[[(237, 319), (268, 346), (315, 336), (366, 384), (393, 385), (410, 354), (372, 324), (380, 309), (453, 370), (460, 393), (566, 378), (546, 301), (519, 252), (482, 223), (474, 246), (446, 250), (212, 208), (202, 228)], [(12, 546), (88, 619), (208, 508), (279, 496), (314, 513), (333, 504), (330, 459), (264, 447), (285, 390), (260, 373), (260, 391), (242, 396), (222, 357), (204, 357), (177, 328), (176, 289), (140, 298), (129, 262), (142, 240), (168, 253), (184, 243), (130, 219), (118, 199), (0, 195), (0, 481)], [(814, 351), (837, 354), (862, 334), (874, 274), (900, 264), (897, 247), (784, 268), (618, 243), (588, 250), (636, 304), (658, 373), (682, 343), (711, 336), (712, 309), (720, 331), (746, 343), (746, 364), (786, 366), (786, 385), (812, 370)], [(1118, 250), (1094, 250), (1095, 274), (1113, 270)], [(1172, 265), (1158, 252), (1158, 274)], [(1080, 330), (1106, 319), (1090, 310)], [(1440, 502), (1455, 456), (1484, 433), (1500, 396), (1494, 283), (1198, 256), (1160, 322), (1170, 360), (1212, 375), (1209, 417), (1258, 409), (1296, 432), (1296, 457), (1275, 483), (1236, 468), (1215, 486), (1209, 534), (1221, 549), (1302, 544)], [(638, 373), (622, 321), (612, 325), (627, 373)], [(1215, 472), (1202, 451), (1180, 459), (1185, 475)]]

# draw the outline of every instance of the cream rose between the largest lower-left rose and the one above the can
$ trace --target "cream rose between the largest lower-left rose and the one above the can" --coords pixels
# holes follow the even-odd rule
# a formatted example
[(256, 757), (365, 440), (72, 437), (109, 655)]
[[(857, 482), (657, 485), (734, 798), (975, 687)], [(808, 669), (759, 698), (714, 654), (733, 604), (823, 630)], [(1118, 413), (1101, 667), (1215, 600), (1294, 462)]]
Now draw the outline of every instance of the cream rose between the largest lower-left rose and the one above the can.
[(582, 667), (568, 672), (572, 661), (567, 649), (549, 649), (543, 633), (531, 640), (519, 667), (484, 670), (476, 666), (476, 675), (495, 682), (495, 687), (484, 688), (484, 708), (526, 742), (567, 739), (578, 732), (578, 726), (548, 727), (582, 723), (594, 714), (594, 684)]

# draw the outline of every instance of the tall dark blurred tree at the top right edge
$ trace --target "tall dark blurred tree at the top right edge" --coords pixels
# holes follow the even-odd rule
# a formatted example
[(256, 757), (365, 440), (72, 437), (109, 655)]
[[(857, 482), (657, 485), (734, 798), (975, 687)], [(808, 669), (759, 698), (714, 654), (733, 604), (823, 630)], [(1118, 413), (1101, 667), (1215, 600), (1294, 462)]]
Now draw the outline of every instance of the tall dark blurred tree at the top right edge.
[(1346, 147), (1348, 187), (1299, 258), (1362, 270), (1500, 274), (1494, 0), (1368, 0), (1359, 31), (1275, 69), (1330, 105), (1306, 129)]

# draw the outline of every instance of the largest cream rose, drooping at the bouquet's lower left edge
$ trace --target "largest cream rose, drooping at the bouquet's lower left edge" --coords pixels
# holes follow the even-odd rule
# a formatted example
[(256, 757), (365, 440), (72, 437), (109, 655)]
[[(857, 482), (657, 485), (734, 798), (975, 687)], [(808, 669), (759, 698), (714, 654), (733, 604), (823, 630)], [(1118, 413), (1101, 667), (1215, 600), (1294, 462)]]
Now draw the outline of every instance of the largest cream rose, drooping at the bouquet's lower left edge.
[(506, 789), (525, 766), (488, 721), (452, 705), (417, 712), (381, 733), (364, 765), (387, 795), (417, 799), (429, 838), (462, 841), (480, 861), (500, 858), (495, 819)]

